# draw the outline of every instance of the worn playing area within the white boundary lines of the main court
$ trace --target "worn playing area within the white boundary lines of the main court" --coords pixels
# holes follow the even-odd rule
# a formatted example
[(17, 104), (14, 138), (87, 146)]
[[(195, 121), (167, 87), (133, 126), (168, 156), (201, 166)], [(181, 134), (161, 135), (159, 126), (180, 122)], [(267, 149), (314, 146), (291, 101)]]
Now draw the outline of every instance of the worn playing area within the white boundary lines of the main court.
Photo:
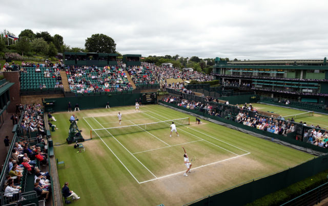
[[(200, 131), (189, 126), (189, 118), (161, 121), (151, 111), (127, 113), (125, 116), (128, 120), (123, 120), (119, 126), (113, 115), (83, 119), (88, 125), (94, 125), (90, 125), (92, 136), (100, 138), (111, 151), (111, 147), (121, 147), (130, 154), (125, 158), (127, 154), (113, 152), (139, 184), (183, 174), (186, 167), (181, 164), (181, 145), (190, 148), (189, 152), (197, 156), (197, 165), (201, 165), (192, 170), (250, 154), (214, 137), (210, 141), (204, 140)], [(175, 133), (169, 136), (168, 128), (172, 122), (177, 125), (179, 136)], [(169, 167), (157, 167), (161, 164)]]

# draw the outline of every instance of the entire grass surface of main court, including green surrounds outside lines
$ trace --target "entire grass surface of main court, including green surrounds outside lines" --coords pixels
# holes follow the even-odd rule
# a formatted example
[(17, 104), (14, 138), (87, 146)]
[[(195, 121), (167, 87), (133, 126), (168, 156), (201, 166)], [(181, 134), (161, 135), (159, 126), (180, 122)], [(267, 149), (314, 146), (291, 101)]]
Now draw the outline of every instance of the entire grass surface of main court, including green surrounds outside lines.
[[(111, 135), (104, 128), (120, 126), (118, 111), (121, 127), (186, 117), (191, 124), (177, 124), (179, 137), (173, 133), (172, 138), (168, 123), (167, 128)], [(313, 157), (204, 120), (196, 125), (194, 117), (159, 105), (140, 106), (140, 112), (130, 106), (54, 113), (59, 128), (52, 132), (54, 145), (65, 143), (73, 113), (85, 139), (91, 129), (103, 129), (83, 143), (85, 152), (76, 152), (73, 144), (54, 146), (66, 166), (58, 169), (60, 185), (70, 182), (81, 197), (76, 205), (182, 205)], [(187, 169), (182, 146), (190, 159), (197, 157), (187, 177), (182, 176)]]

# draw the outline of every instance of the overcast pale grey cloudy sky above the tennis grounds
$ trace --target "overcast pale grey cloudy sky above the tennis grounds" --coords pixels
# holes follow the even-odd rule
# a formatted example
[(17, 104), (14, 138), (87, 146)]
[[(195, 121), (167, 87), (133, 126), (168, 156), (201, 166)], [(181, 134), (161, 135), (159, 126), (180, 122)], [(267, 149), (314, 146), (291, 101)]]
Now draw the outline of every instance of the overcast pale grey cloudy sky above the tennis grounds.
[(59, 34), (71, 47), (103, 33), (121, 54), (323, 59), (328, 1), (5, 1), (0, 29)]

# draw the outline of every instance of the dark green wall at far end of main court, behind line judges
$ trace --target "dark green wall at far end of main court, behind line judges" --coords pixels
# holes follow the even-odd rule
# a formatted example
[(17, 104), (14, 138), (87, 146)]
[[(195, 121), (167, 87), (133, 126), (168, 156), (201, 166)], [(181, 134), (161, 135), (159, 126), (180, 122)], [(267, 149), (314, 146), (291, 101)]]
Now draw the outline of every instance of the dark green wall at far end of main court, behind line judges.
[(51, 98), (45, 101), (54, 101), (53, 105), (45, 105), (45, 110), (53, 111), (67, 111), (68, 102), (71, 102), (72, 109), (78, 103), (80, 109), (94, 109), (106, 107), (106, 103), (114, 106), (128, 106), (134, 105), (135, 99), (141, 97), (140, 93), (137, 94), (120, 94), (120, 95), (90, 95), (90, 96), (77, 96), (77, 97), (64, 97), (64, 98)]

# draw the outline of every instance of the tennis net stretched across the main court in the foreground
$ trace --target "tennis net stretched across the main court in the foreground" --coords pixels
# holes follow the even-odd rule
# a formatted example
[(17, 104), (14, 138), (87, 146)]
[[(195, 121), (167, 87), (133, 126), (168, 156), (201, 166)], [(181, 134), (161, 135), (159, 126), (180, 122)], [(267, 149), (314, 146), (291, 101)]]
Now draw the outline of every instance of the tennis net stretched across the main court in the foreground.
[(182, 126), (182, 125), (189, 125), (190, 120), (189, 118), (181, 118), (175, 120), (166, 120), (161, 122), (152, 122), (147, 124), (135, 124), (129, 126), (120, 126), (120, 127), (110, 127), (110, 128), (103, 128), (103, 129), (91, 129), (90, 135), (92, 138), (104, 138), (106, 136), (116, 136), (121, 134), (129, 134), (141, 131), (150, 131), (155, 129), (163, 129), (169, 128), (170, 125), (174, 122), (175, 126)]

